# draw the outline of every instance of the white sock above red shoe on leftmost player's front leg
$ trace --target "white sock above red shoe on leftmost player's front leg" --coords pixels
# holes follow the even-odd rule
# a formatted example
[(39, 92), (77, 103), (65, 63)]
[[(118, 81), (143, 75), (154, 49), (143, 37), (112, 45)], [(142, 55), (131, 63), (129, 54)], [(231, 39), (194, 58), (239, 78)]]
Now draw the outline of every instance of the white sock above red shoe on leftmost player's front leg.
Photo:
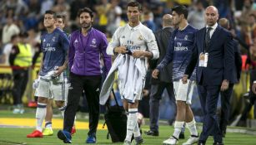
[(42, 132), (42, 124), (43, 124), (43, 119), (45, 118), (46, 115), (46, 105), (43, 103), (38, 103), (38, 108), (36, 112), (36, 118), (37, 118), (37, 130)]

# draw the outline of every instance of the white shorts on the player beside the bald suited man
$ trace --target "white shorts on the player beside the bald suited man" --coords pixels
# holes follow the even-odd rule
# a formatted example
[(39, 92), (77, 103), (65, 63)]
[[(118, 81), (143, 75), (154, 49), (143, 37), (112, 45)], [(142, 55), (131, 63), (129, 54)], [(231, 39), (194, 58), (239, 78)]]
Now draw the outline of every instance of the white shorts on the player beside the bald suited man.
[(194, 85), (195, 81), (193, 80), (188, 80), (187, 84), (183, 84), (182, 80), (173, 81), (173, 89), (176, 101), (185, 101), (186, 104), (191, 104)]

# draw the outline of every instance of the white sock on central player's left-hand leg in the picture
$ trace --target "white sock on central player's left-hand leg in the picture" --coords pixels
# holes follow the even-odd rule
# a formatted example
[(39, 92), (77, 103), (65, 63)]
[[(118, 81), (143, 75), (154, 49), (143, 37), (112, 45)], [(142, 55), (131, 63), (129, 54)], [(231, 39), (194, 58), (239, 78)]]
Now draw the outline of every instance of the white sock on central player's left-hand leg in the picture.
[(126, 141), (131, 142), (133, 131), (136, 127), (136, 124), (138, 125), (137, 113), (138, 113), (138, 109), (128, 109), (127, 129), (126, 129), (126, 138), (125, 138)]

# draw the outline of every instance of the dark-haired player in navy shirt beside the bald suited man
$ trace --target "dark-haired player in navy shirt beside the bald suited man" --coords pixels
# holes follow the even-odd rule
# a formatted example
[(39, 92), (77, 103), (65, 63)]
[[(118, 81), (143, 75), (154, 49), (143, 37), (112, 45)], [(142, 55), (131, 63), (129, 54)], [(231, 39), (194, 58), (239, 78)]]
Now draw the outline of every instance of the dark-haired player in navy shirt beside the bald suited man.
[(183, 144), (193, 144), (198, 142), (198, 131), (189, 105), (191, 104), (193, 86), (195, 85), (195, 71), (187, 85), (183, 85), (181, 79), (193, 51), (194, 33), (197, 30), (188, 24), (188, 9), (186, 7), (174, 7), (172, 15), (173, 25), (178, 26), (178, 29), (173, 31), (166, 56), (152, 73), (153, 78), (158, 78), (159, 71), (162, 71), (168, 63), (173, 61), (173, 88), (177, 104), (177, 115), (173, 136), (163, 141), (163, 144), (178, 144), (178, 136), (181, 133), (184, 122), (191, 136)]

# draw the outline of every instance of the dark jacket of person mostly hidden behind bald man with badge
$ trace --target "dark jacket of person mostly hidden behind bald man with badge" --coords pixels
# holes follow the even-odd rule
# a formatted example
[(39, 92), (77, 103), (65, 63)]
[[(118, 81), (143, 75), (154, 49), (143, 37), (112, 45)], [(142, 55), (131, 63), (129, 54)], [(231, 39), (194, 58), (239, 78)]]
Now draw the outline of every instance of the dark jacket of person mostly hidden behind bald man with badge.
[(238, 48), (238, 41), (233, 39), (233, 51), (234, 51), (234, 67), (233, 67), (233, 81), (230, 83), (235, 84), (238, 83), (241, 76), (242, 70), (242, 58), (241, 52)]

